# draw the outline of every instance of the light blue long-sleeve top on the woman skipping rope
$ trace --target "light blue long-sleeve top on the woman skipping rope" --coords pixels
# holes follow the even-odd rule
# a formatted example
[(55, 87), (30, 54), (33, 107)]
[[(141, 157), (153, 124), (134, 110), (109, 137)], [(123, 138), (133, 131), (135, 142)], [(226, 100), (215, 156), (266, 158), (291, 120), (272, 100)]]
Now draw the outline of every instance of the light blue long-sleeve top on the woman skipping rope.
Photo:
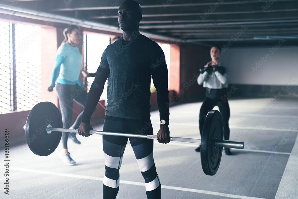
[(51, 86), (55, 82), (59, 84), (75, 85), (76, 83), (83, 86), (79, 79), (81, 71), (82, 56), (79, 49), (72, 47), (68, 43), (63, 43), (57, 50), (56, 64), (52, 72)]

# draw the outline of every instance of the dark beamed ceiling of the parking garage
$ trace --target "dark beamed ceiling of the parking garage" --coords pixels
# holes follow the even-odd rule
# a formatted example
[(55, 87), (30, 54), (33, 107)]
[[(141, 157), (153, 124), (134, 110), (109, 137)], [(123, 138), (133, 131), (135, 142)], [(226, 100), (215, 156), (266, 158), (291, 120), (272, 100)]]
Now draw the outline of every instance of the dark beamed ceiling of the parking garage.
[[(1, 0), (1, 4), (118, 27), (123, 0)], [(203, 45), (298, 45), (298, 0), (139, 0), (140, 30)]]

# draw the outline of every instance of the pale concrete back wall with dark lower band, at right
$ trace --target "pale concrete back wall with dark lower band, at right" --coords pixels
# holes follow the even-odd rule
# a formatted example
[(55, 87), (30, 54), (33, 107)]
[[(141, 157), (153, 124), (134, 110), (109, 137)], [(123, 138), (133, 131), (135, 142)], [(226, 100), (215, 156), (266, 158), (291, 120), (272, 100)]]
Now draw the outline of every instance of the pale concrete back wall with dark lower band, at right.
[(239, 88), (237, 95), (298, 95), (298, 47), (283, 46), (286, 42), (280, 40), (271, 47), (229, 48), (223, 52), (221, 61), (229, 67), (230, 85)]

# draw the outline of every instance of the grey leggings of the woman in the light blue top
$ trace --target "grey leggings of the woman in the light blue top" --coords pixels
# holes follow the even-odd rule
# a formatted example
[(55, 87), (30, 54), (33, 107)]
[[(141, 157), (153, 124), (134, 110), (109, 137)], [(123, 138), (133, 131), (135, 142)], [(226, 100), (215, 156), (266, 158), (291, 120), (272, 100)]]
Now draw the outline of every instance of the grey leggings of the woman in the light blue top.
[[(56, 85), (57, 95), (59, 98), (59, 106), (62, 115), (63, 128), (78, 129), (82, 122), (83, 111), (77, 116), (75, 123), (71, 125), (73, 103), (76, 101), (82, 107), (85, 107), (87, 91), (82, 89), (79, 84), (67, 85), (59, 84)], [(68, 132), (62, 132), (62, 144), (63, 149), (67, 149)]]

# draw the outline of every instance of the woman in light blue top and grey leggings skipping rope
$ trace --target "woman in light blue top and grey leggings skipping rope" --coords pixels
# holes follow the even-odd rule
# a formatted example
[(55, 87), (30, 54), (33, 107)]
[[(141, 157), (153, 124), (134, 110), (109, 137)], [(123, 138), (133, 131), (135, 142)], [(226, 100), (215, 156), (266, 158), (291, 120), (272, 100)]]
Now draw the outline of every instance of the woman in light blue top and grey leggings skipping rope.
[[(83, 83), (79, 79), (81, 72), (82, 55), (77, 48), (77, 44), (82, 41), (80, 28), (76, 25), (69, 25), (63, 31), (64, 41), (57, 50), (56, 64), (52, 72), (51, 84), (48, 88), (49, 92), (53, 91), (57, 80), (56, 90), (59, 98), (59, 105), (62, 115), (63, 128), (77, 129), (82, 120), (81, 112), (71, 126), (73, 101), (76, 101), (82, 107), (85, 106), (87, 91)], [(63, 132), (63, 160), (70, 165), (75, 165), (75, 161), (70, 157), (67, 149), (68, 137), (80, 144), (75, 133)]]

